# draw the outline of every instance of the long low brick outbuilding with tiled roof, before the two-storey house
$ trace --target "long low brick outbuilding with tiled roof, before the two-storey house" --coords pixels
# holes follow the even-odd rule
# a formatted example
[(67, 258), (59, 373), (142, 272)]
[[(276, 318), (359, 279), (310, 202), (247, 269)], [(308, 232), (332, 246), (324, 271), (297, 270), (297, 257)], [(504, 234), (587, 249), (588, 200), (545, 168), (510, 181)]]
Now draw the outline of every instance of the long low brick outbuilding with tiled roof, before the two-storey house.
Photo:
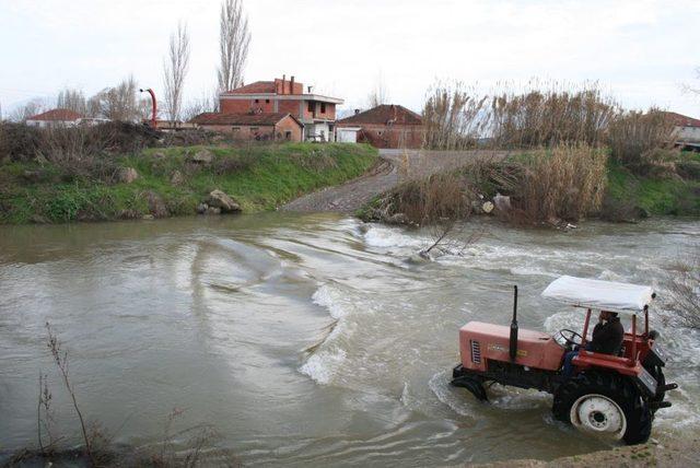
[(289, 113), (203, 113), (191, 122), (240, 140), (302, 141), (304, 131), (302, 122)]

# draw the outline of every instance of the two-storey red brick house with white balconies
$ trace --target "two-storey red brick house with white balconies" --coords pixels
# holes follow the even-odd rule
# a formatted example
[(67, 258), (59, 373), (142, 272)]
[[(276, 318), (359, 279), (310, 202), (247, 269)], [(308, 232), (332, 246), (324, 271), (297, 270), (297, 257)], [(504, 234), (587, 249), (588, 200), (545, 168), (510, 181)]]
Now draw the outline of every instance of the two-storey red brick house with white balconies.
[(219, 95), (222, 114), (287, 113), (304, 128), (304, 140), (335, 141), (336, 106), (343, 101), (313, 93), (312, 86), (287, 80), (256, 81)]

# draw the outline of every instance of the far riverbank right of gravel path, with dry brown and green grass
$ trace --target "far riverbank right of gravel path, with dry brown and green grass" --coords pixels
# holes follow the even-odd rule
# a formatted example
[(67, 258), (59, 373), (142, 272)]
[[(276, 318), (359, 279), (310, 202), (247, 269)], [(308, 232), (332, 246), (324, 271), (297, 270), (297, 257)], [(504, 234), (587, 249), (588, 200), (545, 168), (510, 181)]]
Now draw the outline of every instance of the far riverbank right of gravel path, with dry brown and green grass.
[(355, 214), (363, 221), (420, 225), (486, 212), (516, 225), (556, 226), (596, 218), (700, 217), (700, 154), (664, 155), (637, 172), (615, 163), (605, 149), (587, 147), (464, 157), (460, 165), (406, 177)]

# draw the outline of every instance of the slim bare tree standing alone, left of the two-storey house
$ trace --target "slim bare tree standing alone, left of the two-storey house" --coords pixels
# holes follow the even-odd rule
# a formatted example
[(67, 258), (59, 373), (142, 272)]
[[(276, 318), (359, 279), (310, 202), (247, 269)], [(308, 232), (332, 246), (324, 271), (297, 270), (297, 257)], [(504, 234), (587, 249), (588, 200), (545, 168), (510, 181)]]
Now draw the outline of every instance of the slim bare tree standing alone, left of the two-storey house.
[(178, 23), (175, 33), (171, 34), (168, 56), (163, 63), (163, 81), (165, 82), (165, 112), (167, 118), (176, 122), (180, 118), (183, 105), (183, 84), (189, 67), (189, 36), (187, 24)]

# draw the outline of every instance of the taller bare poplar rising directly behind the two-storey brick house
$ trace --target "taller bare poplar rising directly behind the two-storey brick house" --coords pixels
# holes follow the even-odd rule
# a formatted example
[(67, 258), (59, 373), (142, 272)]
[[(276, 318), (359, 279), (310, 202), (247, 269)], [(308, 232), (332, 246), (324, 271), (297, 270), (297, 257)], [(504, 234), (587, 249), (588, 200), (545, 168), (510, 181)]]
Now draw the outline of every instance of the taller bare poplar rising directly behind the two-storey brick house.
[(234, 90), (243, 84), (243, 72), (248, 58), (250, 31), (242, 0), (223, 0), (219, 20), (219, 54), (221, 63), (217, 72), (219, 91)]

